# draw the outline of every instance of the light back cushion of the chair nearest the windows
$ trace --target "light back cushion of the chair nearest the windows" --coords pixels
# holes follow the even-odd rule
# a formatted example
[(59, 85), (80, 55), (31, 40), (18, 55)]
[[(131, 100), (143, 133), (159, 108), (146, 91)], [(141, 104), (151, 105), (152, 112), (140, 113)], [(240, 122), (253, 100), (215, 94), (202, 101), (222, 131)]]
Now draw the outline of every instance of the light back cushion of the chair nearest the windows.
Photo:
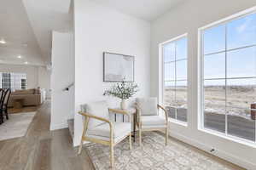
[(142, 116), (157, 116), (157, 99), (156, 98), (137, 98), (137, 106), (141, 109)]

